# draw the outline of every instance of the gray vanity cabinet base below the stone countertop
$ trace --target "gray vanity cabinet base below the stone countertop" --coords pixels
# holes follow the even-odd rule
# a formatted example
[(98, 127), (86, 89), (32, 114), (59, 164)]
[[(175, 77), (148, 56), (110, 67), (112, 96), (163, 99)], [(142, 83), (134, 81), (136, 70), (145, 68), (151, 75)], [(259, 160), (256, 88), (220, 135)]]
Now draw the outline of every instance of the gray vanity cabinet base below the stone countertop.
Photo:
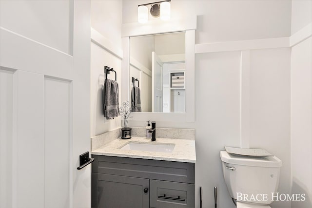
[(194, 163), (92, 157), (92, 208), (195, 207)]

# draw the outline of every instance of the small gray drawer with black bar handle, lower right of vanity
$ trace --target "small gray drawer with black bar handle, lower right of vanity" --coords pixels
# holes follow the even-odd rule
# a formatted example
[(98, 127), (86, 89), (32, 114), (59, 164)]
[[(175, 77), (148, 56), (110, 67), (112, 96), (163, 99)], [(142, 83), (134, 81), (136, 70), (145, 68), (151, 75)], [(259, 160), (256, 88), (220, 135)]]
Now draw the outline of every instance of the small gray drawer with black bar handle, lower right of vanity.
[(150, 207), (194, 208), (195, 185), (150, 180)]

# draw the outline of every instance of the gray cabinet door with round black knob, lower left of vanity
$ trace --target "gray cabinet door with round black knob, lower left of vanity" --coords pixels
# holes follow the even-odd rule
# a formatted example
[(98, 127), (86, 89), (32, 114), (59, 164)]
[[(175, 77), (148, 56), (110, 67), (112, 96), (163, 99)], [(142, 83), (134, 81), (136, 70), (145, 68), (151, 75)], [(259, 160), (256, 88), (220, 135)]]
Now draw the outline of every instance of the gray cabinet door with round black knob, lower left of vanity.
[(149, 179), (92, 173), (92, 208), (149, 208), (149, 192)]

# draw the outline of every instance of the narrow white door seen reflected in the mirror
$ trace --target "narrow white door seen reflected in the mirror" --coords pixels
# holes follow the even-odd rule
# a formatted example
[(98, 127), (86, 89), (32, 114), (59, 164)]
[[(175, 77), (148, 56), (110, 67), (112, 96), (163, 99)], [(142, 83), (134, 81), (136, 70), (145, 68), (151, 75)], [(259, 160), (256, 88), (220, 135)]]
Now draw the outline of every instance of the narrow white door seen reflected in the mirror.
[(152, 52), (152, 112), (162, 112), (163, 62)]

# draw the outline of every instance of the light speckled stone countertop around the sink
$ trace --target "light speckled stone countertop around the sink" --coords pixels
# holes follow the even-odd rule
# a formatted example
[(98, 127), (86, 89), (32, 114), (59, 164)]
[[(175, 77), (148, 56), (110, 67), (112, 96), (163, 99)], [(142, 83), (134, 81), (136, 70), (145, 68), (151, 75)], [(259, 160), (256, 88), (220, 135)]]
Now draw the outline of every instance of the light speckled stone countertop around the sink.
[[(134, 150), (120, 150), (124, 145), (135, 143), (167, 143), (175, 144), (172, 152), (156, 152), (156, 151), (134, 151)], [(168, 139), (156, 138), (156, 141), (151, 141), (144, 137), (132, 136), (131, 139), (115, 139), (108, 144), (99, 147), (91, 152), (96, 155), (117, 156), (117, 157), (131, 157), (141, 159), (166, 160), (177, 162), (196, 162), (195, 140), (194, 139)]]

